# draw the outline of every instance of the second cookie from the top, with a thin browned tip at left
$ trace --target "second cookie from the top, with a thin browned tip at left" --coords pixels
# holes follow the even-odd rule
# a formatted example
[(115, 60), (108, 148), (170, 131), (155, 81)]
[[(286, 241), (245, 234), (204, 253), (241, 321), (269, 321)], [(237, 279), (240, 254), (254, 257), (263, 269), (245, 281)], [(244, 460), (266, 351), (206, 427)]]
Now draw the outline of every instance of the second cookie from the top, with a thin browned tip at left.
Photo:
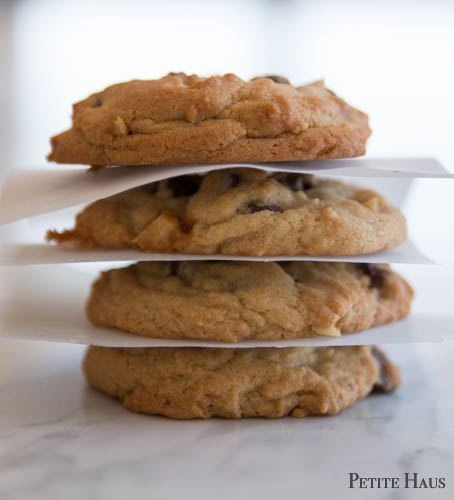
[(99, 200), (73, 230), (79, 247), (226, 255), (359, 255), (406, 238), (401, 212), (370, 189), (308, 174), (225, 169)]

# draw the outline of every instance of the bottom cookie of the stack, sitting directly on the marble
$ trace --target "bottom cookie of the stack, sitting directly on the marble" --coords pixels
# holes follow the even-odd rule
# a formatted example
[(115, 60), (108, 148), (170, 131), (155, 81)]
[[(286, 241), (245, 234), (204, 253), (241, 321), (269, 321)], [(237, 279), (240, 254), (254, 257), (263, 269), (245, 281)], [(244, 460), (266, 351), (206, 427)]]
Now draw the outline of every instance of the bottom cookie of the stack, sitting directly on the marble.
[(374, 346), (88, 348), (88, 383), (132, 411), (190, 418), (333, 415), (400, 385)]

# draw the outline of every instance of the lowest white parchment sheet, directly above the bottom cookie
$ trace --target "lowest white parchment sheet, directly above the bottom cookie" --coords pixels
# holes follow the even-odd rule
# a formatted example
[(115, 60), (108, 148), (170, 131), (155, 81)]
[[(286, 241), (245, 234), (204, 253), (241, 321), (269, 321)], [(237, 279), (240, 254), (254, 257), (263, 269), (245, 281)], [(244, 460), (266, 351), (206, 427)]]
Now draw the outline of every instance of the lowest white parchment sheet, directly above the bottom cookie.
[[(404, 321), (362, 333), (334, 338), (320, 336), (291, 341), (247, 341), (238, 344), (190, 340), (159, 340), (110, 328), (92, 326), (85, 318), (84, 304), (94, 276), (69, 266), (1, 268), (4, 284), (0, 294), (0, 338), (43, 340), (123, 347), (288, 347), (340, 346), (454, 340), (454, 315), (415, 311)], [(430, 290), (434, 303), (438, 287)], [(426, 290), (427, 292), (427, 290)]]

